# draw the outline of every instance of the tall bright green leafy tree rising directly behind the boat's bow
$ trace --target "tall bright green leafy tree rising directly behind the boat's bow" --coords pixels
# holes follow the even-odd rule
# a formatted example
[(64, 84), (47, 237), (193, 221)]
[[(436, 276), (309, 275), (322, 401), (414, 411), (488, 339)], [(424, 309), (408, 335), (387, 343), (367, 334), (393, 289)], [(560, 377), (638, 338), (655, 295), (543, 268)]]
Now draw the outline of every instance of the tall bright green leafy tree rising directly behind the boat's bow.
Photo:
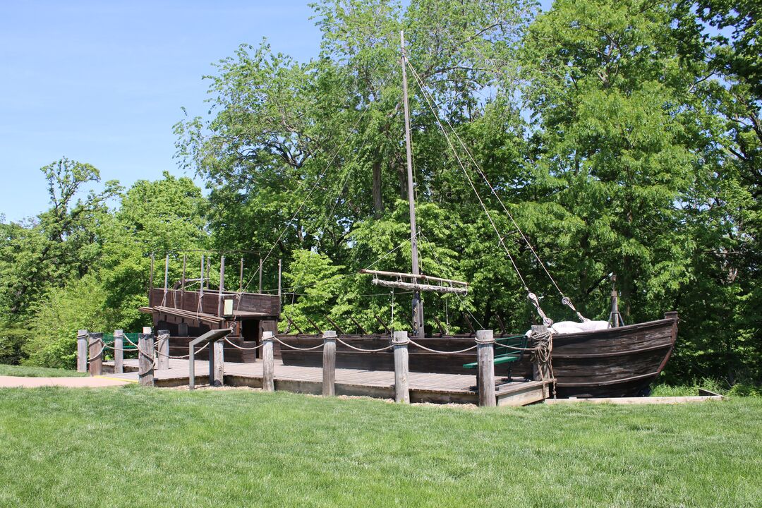
[(541, 184), (578, 225), (550, 257), (565, 286), (580, 281), (578, 300), (616, 273), (634, 321), (674, 299), (695, 248), (681, 203), (703, 169), (686, 111), (692, 75), (679, 65), (671, 19), (652, 2), (559, 0), (524, 51)]

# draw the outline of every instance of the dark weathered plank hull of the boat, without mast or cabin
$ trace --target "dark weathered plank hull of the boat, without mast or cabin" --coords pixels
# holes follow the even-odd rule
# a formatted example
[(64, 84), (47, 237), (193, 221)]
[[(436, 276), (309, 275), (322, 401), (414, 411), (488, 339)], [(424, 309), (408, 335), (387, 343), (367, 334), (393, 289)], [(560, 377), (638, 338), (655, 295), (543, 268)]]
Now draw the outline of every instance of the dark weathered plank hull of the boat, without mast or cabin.
[[(499, 337), (499, 336), (498, 336)], [(388, 335), (341, 335), (354, 347), (366, 350), (389, 345)], [(658, 321), (631, 324), (625, 327), (557, 334), (553, 337), (552, 367), (559, 397), (632, 397), (644, 395), (659, 375), (677, 338), (677, 315)], [(322, 343), (318, 335), (281, 335), (283, 342), (294, 347), (313, 347)], [(474, 344), (473, 336), (426, 337), (418, 340), (434, 350), (457, 351)], [(322, 352), (291, 350), (281, 347), (283, 363), (299, 366), (322, 365)], [(437, 354), (411, 345), (408, 349), (412, 372), (469, 373), (464, 363), (474, 362), (474, 350), (466, 353)], [(338, 343), (336, 366), (343, 369), (393, 370), (394, 356), (383, 352), (358, 352)], [(511, 375), (532, 377), (529, 355), (514, 365)], [(507, 375), (506, 366), (495, 368), (495, 375)]]

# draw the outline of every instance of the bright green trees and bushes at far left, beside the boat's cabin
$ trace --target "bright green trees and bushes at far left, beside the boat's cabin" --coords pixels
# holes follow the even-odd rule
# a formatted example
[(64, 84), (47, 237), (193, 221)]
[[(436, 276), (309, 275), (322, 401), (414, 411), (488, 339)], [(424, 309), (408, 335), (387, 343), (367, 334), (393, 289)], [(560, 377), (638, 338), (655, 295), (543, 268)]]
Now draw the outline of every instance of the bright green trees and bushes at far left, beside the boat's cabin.
[(136, 182), (114, 212), (106, 201), (117, 195), (116, 182), (77, 199), (83, 185), (98, 182), (90, 165), (64, 158), (43, 172), (53, 207), (33, 221), (0, 224), (0, 308), (8, 319), (0, 359), (71, 368), (78, 329), (148, 324), (138, 308), (147, 304), (149, 253), (178, 257), (203, 247), (206, 200), (189, 178), (165, 173)]

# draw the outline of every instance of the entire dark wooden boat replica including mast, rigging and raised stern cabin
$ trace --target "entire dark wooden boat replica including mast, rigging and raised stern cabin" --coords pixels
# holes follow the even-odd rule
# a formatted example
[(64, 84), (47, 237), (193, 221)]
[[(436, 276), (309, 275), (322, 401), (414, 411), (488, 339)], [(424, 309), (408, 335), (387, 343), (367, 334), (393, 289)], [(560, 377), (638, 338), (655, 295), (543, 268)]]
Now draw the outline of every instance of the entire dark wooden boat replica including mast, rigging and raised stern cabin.
[[(373, 283), (413, 292), (411, 335), (415, 337), (418, 343), (434, 350), (453, 351), (450, 354), (439, 354), (431, 353), (415, 346), (409, 347), (409, 369), (411, 372), (473, 374), (473, 370), (468, 370), (464, 366), (475, 362), (475, 351), (470, 350), (465, 353), (458, 353), (457, 351), (473, 345), (475, 331), (472, 331), (471, 334), (447, 335), (442, 332), (440, 334), (430, 333), (427, 335), (424, 330), (421, 292), (465, 292), (467, 284), (462, 281), (424, 275), (418, 269), (418, 245), (416, 238), (418, 230), (415, 224), (415, 203), (412, 190), (412, 155), (405, 65), (409, 65), (409, 62), (407, 62), (405, 57), (403, 41), (402, 89), (405, 109), (405, 145), (408, 162), (412, 273), (366, 271), (374, 276)], [(421, 91), (423, 91), (422, 85)], [(441, 124), (440, 127), (442, 127)], [(444, 129), (443, 132), (445, 132)], [(447, 136), (446, 132), (445, 136)], [(453, 145), (450, 143), (450, 148), (452, 147)], [(479, 173), (482, 174), (481, 170), (479, 170)], [(483, 174), (482, 177), (484, 177)], [(495, 193), (495, 190), (492, 190)], [(495, 197), (502, 204), (497, 193), (495, 193)], [(479, 198), (479, 201), (480, 203), (482, 202), (481, 198)], [(489, 212), (483, 203), (482, 207), (489, 216)], [(520, 228), (518, 228), (510, 212), (505, 207), (503, 208), (511, 218), (514, 227), (520, 232)], [(494, 222), (492, 224), (495, 227)], [(495, 232), (498, 234), (499, 241), (505, 249), (508, 259), (511, 260), (511, 264), (513, 264), (518, 272), (517, 265), (505, 247), (502, 236), (497, 228), (495, 228)], [(537, 257), (536, 252), (523, 233), (521, 233), (521, 237), (527, 242), (527, 246), (536, 256), (539, 264), (545, 268), (542, 260)], [(201, 265), (200, 286), (203, 287), (203, 257)], [(167, 286), (167, 267), (165, 267), (164, 288), (152, 288), (150, 290), (149, 306), (141, 308), (141, 310), (153, 315), (156, 330), (167, 329), (170, 331), (170, 354), (186, 353), (187, 343), (194, 337), (210, 329), (222, 327), (232, 327), (234, 331), (229, 338), (233, 343), (244, 347), (258, 345), (261, 342), (264, 331), (277, 332), (280, 340), (293, 347), (308, 348), (322, 343), (322, 334), (303, 333), (303, 331), (296, 328), (296, 324), (287, 316), (287, 321), (289, 321), (288, 330), (283, 332), (277, 331), (277, 323), (280, 320), (280, 296), (262, 294), (261, 292), (225, 291), (224, 265), (225, 261), (223, 257), (220, 263), (220, 280), (223, 282), (220, 283), (220, 287), (216, 291), (214, 289), (211, 291), (207, 289), (207, 292), (204, 292), (203, 289), (189, 291), (186, 287), (189, 281), (184, 280), (184, 277), (180, 283), (169, 288)], [(547, 269), (545, 270), (548, 276), (550, 276)], [(385, 279), (383, 275), (391, 276), (391, 279)], [(523, 277), (521, 280), (523, 281)], [(555, 284), (555, 280), (553, 283), (556, 289), (559, 289), (558, 285)], [(528, 288), (527, 292), (527, 297), (536, 308), (539, 317), (542, 318), (546, 326), (551, 326), (553, 322), (546, 317), (542, 308), (540, 308), (539, 299), (532, 292), (529, 292)], [(559, 292), (562, 295), (562, 302), (568, 305), (572, 311), (576, 312), (574, 305), (571, 304), (571, 300), (564, 296), (560, 289)], [(624, 326), (617, 310), (617, 305), (616, 292), (613, 292), (612, 312), (610, 314), (611, 327), (577, 333), (552, 334), (552, 376), (555, 378), (555, 390), (558, 397), (589, 398), (645, 395), (645, 392), (648, 391), (648, 385), (664, 369), (664, 365), (671, 355), (677, 337), (677, 313), (668, 312), (664, 315), (663, 319), (657, 321)], [(576, 314), (581, 321), (588, 321), (579, 312), (576, 312)], [(357, 331), (355, 334), (344, 333), (338, 323), (329, 319), (338, 332), (339, 338), (344, 343), (362, 350), (380, 349), (389, 345), (392, 334), (383, 321), (379, 320), (383, 331), (380, 333), (369, 333), (363, 330), (357, 321), (354, 321), (352, 318), (349, 319), (353, 321), (352, 326)], [(318, 325), (312, 321), (310, 322), (315, 331), (319, 331)], [(503, 328), (502, 324), (501, 328)], [(349, 328), (347, 327), (347, 329)], [(289, 331), (296, 333), (290, 334)], [(508, 335), (504, 329), (500, 333), (495, 332), (495, 338), (498, 341), (504, 337), (516, 336)], [(319, 349), (304, 351), (276, 347), (275, 354), (287, 365), (322, 365), (322, 352)], [(225, 355), (226, 361), (248, 363), (256, 359), (255, 351), (236, 350), (235, 347), (229, 345), (225, 347)], [(203, 357), (203, 355), (200, 356), (200, 358)], [(394, 370), (393, 353), (389, 350), (378, 352), (358, 351), (338, 343), (336, 366), (339, 369)], [(496, 366), (495, 377), (498, 378), (501, 375), (508, 375), (510, 377), (513, 375), (531, 379), (534, 375), (533, 370), (530, 354), (527, 353), (523, 354), (520, 360), (511, 366), (510, 371), (505, 366)]]

